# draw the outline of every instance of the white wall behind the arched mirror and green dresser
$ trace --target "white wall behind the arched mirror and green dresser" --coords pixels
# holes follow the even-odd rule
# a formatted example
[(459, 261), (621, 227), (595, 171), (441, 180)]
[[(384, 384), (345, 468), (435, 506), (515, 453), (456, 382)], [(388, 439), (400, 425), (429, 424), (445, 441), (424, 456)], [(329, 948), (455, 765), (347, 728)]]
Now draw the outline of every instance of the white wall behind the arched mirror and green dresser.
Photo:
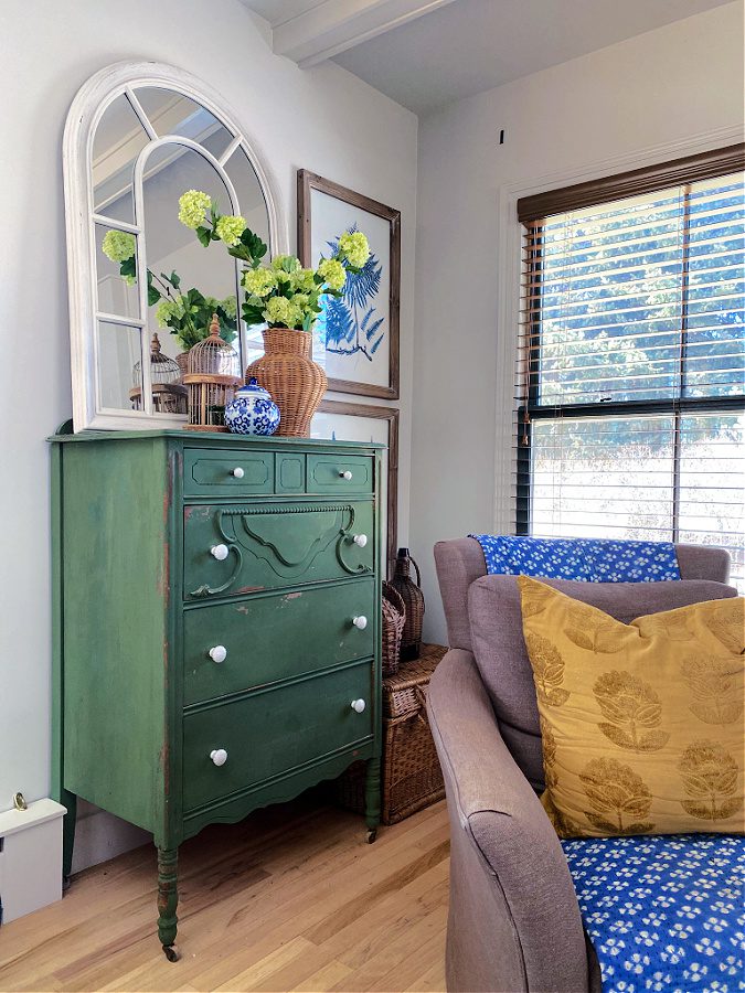
[[(408, 463), (417, 120), (336, 65), (302, 72), (275, 56), (265, 29), (238, 0), (0, 6), (0, 810), (14, 791), (34, 800), (50, 783), (44, 438), (71, 415), (61, 142), (67, 108), (89, 75), (120, 60), (152, 58), (188, 68), (224, 94), (276, 175), (292, 244), (299, 167), (401, 209), (401, 461)], [(405, 471), (400, 500), (405, 540)], [(95, 858), (94, 848), (110, 854), (110, 841), (98, 832), (77, 865)]]

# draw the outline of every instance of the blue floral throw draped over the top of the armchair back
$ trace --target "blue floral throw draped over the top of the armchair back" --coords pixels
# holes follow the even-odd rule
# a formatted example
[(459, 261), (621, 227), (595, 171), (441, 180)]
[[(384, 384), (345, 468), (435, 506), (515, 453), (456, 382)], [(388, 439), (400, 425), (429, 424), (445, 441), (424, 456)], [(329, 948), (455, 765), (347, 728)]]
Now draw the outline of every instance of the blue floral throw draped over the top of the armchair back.
[(608, 538), (536, 538), (471, 534), (483, 548), (487, 572), (586, 583), (658, 583), (680, 579), (672, 542)]

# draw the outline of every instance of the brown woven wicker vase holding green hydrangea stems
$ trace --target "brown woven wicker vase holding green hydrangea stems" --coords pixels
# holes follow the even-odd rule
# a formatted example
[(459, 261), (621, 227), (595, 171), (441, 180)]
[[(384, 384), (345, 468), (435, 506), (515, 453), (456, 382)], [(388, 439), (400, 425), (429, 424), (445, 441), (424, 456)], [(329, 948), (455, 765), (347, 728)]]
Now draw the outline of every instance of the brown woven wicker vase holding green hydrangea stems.
[(246, 382), (256, 376), (279, 407), (277, 435), (307, 438), (310, 421), (326, 393), (326, 373), (310, 357), (309, 331), (267, 328), (264, 355), (246, 370)]

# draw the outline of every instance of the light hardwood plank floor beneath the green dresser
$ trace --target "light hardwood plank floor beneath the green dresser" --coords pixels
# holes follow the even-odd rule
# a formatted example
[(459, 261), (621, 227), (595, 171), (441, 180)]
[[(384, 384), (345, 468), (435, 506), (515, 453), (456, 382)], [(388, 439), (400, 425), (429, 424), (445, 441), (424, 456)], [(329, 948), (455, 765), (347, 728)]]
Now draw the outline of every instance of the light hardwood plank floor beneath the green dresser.
[(181, 959), (156, 935), (147, 845), (0, 928), (0, 990), (444, 991), (448, 824), (438, 803), (366, 844), (318, 796), (181, 848)]

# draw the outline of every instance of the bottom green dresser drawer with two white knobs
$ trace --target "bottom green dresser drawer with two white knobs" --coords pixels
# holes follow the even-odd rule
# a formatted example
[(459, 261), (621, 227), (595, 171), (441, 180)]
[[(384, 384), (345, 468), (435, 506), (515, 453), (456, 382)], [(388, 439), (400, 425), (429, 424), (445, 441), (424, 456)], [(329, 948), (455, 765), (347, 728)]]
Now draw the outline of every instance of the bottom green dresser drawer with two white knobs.
[[(372, 738), (372, 664), (360, 663), (187, 714), (184, 811)], [(352, 707), (359, 700), (361, 714)], [(226, 757), (213, 756), (220, 750)]]

